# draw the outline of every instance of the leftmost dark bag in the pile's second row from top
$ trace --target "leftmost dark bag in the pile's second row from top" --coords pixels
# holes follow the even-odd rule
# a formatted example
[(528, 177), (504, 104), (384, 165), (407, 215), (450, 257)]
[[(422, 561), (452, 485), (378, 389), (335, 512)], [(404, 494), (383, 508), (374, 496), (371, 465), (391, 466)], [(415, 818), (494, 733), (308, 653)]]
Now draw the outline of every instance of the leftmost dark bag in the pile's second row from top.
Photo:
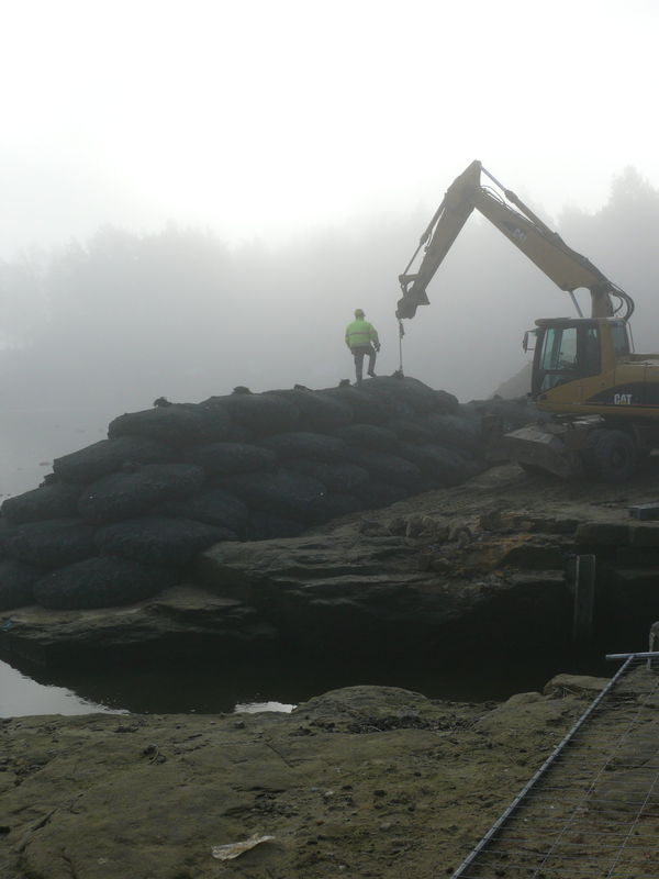
[(166, 464), (174, 458), (170, 446), (146, 436), (118, 436), (55, 458), (53, 471), (68, 482), (93, 482), (131, 464)]

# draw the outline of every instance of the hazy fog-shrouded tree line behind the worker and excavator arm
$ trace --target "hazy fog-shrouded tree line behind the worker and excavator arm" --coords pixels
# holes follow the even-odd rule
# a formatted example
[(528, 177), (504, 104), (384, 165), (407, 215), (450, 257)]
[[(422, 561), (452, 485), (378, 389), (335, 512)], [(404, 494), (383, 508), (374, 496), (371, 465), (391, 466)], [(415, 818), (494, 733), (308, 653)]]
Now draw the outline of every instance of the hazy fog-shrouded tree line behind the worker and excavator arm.
[[(435, 205), (406, 218), (321, 230), (286, 247), (230, 249), (170, 225), (101, 229), (85, 244), (0, 263), (0, 407), (147, 408), (253, 390), (336, 385), (353, 374), (343, 334), (362, 308), (382, 340), (379, 371), (399, 367), (398, 275)], [(558, 220), (576, 251), (636, 300), (638, 351), (659, 349), (659, 191), (636, 170), (596, 213)], [(526, 356), (524, 330), (573, 312), (487, 221), (472, 218), (405, 322), (403, 368), (460, 399), (487, 397)], [(587, 303), (584, 303), (587, 304)]]

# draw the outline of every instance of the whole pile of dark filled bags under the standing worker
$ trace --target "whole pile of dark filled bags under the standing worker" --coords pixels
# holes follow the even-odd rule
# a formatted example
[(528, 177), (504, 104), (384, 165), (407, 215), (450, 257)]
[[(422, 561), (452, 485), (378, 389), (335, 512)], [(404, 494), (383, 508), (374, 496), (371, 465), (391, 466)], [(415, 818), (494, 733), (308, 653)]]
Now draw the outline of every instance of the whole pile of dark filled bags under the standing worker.
[(415, 379), (157, 401), (0, 510), (0, 610), (148, 598), (220, 541), (297, 536), (481, 468), (474, 405)]

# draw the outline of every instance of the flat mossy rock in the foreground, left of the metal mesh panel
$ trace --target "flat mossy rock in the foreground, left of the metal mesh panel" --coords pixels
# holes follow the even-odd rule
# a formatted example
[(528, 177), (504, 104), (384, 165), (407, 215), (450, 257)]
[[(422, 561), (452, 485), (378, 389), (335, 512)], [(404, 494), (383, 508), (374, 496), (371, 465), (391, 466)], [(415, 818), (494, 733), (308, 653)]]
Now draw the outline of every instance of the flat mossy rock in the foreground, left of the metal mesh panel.
[[(446, 876), (605, 683), (502, 704), (387, 687), (292, 714), (0, 722), (3, 879)], [(272, 838), (235, 860), (214, 846)]]

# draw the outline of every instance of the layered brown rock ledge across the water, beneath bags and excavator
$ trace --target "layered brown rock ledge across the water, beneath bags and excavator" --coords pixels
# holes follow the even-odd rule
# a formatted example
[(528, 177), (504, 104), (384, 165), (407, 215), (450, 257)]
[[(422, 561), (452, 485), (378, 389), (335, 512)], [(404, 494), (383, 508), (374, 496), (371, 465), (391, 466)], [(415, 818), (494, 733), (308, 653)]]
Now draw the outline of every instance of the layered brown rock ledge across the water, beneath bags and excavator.
[(628, 508), (650, 500), (658, 467), (650, 459), (624, 493), (495, 467), (299, 537), (214, 544), (185, 582), (139, 602), (5, 612), (0, 648), (52, 667), (145, 650), (434, 664), (488, 650), (556, 656), (572, 637), (566, 558), (593, 554), (599, 654), (638, 649), (659, 619), (659, 523)]

